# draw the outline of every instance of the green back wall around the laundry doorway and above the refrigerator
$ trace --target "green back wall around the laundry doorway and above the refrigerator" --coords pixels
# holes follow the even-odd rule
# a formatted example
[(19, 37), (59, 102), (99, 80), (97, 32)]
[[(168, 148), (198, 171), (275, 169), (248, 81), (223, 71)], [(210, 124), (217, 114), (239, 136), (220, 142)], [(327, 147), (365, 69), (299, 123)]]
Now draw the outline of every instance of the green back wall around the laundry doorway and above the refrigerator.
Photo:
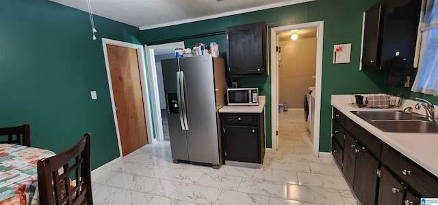
[[(185, 40), (186, 47), (192, 47), (194, 43), (216, 41), (220, 44), (221, 56), (226, 57), (224, 27), (259, 21), (266, 21), (269, 27), (324, 21), (320, 151), (330, 152), (331, 95), (377, 93), (384, 90), (382, 73), (359, 71), (363, 11), (374, 3), (376, 0), (316, 0), (196, 23), (148, 29), (141, 31), (141, 35), (144, 43), (148, 45)], [(333, 45), (343, 43), (352, 43), (351, 62), (333, 64)], [(267, 145), (270, 147), (272, 138), (270, 76), (241, 77), (233, 79), (234, 81), (237, 81), (240, 86), (259, 86), (261, 95), (266, 95), (266, 138)]]

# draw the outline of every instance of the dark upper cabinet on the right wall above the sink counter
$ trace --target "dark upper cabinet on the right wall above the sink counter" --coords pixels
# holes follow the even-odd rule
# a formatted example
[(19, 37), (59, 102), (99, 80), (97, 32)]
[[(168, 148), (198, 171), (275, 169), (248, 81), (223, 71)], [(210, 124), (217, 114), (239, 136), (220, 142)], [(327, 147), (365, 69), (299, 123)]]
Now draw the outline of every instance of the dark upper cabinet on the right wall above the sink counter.
[(413, 67), (421, 0), (382, 0), (365, 12), (362, 69), (387, 69), (399, 53)]

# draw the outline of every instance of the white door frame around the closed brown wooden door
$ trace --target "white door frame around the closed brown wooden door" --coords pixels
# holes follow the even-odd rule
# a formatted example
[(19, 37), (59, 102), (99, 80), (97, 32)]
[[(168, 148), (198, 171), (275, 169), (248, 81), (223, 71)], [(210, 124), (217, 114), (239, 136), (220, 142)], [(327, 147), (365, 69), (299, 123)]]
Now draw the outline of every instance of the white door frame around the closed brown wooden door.
[(140, 69), (140, 82), (142, 84), (141, 86), (142, 86), (142, 95), (143, 95), (144, 118), (146, 121), (146, 130), (148, 133), (148, 143), (155, 143), (156, 140), (153, 138), (152, 119), (151, 119), (151, 117), (147, 117), (147, 116), (151, 116), (151, 109), (149, 106), (151, 104), (151, 102), (149, 101), (149, 88), (148, 88), (148, 84), (146, 81), (146, 66), (144, 64), (144, 48), (142, 45), (137, 45), (137, 44), (133, 44), (133, 43), (126, 43), (123, 41), (112, 40), (112, 39), (107, 39), (107, 38), (102, 38), (103, 55), (105, 56), (105, 67), (107, 68), (108, 86), (110, 88), (112, 113), (114, 116), (114, 124), (116, 125), (118, 150), (120, 152), (120, 156), (123, 156), (122, 144), (120, 143), (120, 131), (118, 130), (116, 104), (114, 102), (114, 92), (112, 90), (110, 62), (108, 62), (107, 45), (116, 45), (116, 46), (120, 46), (120, 47), (128, 47), (128, 48), (132, 48), (132, 49), (137, 49), (138, 67)]

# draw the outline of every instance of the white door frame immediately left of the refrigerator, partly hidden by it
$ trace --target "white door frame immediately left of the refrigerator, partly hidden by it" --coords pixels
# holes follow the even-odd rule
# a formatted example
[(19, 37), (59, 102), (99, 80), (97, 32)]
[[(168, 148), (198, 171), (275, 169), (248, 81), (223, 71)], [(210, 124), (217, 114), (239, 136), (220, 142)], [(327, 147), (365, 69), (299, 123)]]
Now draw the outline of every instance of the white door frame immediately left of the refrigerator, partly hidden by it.
[(146, 47), (146, 62), (148, 65), (148, 80), (149, 86), (151, 88), (151, 100), (152, 100), (152, 114), (153, 114), (153, 124), (155, 125), (155, 134), (157, 136), (157, 141), (164, 140), (163, 134), (163, 124), (162, 124), (162, 113), (159, 106), (159, 93), (158, 93), (158, 78), (157, 78), (157, 68), (155, 67), (155, 51), (154, 49), (162, 49), (166, 47), (184, 47), (184, 42), (176, 43), (165, 43), (160, 45), (144, 45)]

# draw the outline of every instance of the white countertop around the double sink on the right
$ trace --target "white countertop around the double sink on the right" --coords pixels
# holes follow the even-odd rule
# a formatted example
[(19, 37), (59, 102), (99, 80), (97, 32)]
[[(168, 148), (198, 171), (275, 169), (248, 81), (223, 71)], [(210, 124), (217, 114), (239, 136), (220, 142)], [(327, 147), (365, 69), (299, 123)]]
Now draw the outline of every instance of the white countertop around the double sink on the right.
[[(331, 105), (337, 108), (339, 111), (344, 113), (346, 117), (352, 119), (359, 125), (361, 125), (365, 130), (374, 134), (387, 145), (390, 145), (398, 152), (404, 154), (418, 165), (430, 171), (435, 176), (438, 176), (438, 134), (437, 133), (400, 133), (400, 132), (383, 132), (378, 128), (374, 127), (367, 121), (361, 119), (356, 114), (350, 111), (361, 110), (361, 111), (372, 111), (372, 110), (394, 110), (394, 109), (357, 109), (348, 105), (351, 103), (350, 95), (332, 95)], [(400, 110), (407, 108), (409, 106), (414, 107), (417, 101), (410, 99), (404, 100)], [(420, 114), (425, 114), (424, 109), (415, 110)]]

